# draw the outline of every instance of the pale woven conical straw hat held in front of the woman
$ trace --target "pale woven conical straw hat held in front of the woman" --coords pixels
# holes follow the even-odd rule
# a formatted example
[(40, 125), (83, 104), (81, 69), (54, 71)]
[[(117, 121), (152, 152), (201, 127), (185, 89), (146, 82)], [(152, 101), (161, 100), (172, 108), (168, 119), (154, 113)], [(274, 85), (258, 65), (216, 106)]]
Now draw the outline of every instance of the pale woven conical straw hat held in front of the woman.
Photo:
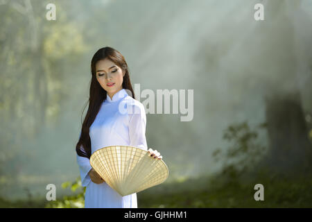
[(163, 160), (135, 146), (106, 146), (90, 157), (92, 168), (121, 196), (159, 185), (168, 178)]

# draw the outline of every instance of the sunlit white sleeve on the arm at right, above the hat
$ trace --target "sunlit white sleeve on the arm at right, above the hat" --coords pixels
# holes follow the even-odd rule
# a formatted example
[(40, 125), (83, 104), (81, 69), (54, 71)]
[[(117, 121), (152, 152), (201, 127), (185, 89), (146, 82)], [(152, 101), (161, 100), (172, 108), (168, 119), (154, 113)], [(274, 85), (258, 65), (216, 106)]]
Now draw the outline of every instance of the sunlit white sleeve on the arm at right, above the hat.
[(129, 114), (130, 146), (148, 150), (146, 143), (146, 112), (141, 103), (135, 105), (135, 112)]

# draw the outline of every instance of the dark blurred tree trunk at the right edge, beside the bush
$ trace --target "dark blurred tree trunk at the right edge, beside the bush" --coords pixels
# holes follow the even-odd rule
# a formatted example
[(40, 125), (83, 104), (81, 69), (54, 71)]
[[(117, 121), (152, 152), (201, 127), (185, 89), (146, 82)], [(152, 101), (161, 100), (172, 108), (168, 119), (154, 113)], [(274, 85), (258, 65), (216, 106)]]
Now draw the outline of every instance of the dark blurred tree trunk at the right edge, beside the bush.
[(266, 167), (286, 176), (311, 173), (312, 146), (300, 94), (273, 94), (266, 98), (269, 150)]

